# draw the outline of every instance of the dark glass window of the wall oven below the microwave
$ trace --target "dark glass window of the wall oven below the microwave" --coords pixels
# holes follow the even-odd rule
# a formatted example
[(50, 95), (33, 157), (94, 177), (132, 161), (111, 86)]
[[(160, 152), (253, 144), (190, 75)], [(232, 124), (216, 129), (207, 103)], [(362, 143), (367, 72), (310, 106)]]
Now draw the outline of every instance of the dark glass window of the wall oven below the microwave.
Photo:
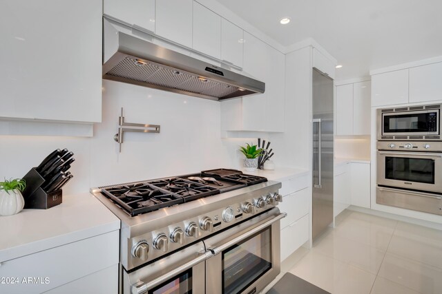
[(385, 156), (385, 178), (434, 184), (434, 160)]

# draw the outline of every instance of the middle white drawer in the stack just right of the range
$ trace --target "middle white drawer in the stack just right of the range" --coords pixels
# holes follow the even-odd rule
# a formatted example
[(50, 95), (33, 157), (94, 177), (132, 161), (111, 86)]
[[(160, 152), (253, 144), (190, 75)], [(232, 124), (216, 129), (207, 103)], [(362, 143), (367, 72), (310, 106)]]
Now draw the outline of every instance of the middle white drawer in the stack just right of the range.
[(287, 227), (309, 213), (310, 198), (309, 189), (307, 188), (282, 198), (282, 203), (278, 207), (280, 211), (286, 212), (287, 216), (282, 218), (281, 228)]

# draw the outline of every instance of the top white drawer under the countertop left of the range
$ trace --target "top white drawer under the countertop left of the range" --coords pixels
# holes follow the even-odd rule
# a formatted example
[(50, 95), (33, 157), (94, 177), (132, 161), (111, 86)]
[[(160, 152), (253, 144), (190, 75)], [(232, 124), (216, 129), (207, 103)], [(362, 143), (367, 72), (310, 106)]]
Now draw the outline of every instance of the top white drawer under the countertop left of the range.
[[(118, 264), (118, 242), (113, 231), (3, 262), (0, 277), (19, 277), (19, 284), (3, 284), (2, 292), (41, 293)], [(24, 277), (40, 282), (23, 284)]]

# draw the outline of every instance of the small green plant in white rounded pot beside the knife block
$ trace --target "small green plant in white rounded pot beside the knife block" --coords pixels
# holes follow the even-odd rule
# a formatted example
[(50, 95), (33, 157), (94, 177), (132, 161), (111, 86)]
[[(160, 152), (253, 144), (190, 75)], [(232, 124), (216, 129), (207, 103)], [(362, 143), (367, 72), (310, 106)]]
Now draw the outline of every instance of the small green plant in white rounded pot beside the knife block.
[(26, 182), (21, 178), (0, 182), (0, 216), (12, 216), (19, 213), (25, 206), (21, 192)]

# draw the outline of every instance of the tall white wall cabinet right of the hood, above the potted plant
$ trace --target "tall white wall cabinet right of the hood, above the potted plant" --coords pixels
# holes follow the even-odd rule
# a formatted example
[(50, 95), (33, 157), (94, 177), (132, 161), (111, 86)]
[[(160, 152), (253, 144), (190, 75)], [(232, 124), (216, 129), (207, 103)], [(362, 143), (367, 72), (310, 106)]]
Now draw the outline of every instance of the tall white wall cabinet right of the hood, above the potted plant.
[[(244, 32), (243, 71), (265, 83), (265, 93), (222, 105), (225, 131), (284, 131), (285, 55)], [(236, 107), (236, 109), (232, 109)], [(232, 116), (231, 114), (237, 114)], [(233, 120), (229, 120), (233, 118)]]

